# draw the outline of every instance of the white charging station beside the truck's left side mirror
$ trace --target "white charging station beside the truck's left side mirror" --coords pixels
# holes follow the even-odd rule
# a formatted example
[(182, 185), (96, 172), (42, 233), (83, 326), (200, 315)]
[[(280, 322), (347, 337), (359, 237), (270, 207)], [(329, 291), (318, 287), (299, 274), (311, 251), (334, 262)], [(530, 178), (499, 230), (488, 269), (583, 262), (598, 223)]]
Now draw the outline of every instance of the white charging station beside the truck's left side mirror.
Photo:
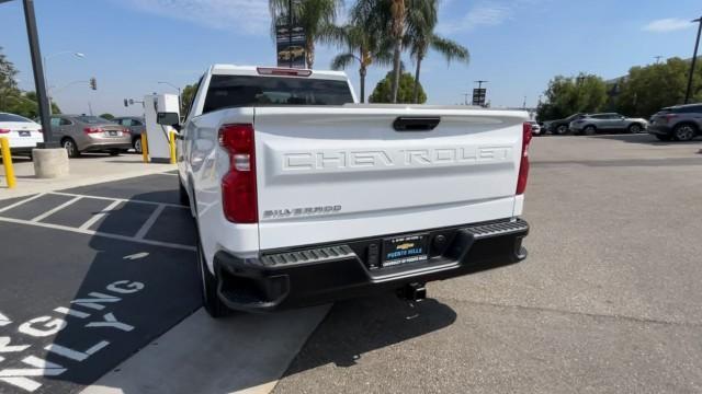
[(170, 135), (177, 132), (170, 126), (156, 123), (157, 114), (178, 113), (180, 117), (180, 103), (176, 94), (149, 94), (144, 96), (144, 119), (146, 121), (146, 138), (148, 153), (151, 163), (170, 163), (171, 146)]

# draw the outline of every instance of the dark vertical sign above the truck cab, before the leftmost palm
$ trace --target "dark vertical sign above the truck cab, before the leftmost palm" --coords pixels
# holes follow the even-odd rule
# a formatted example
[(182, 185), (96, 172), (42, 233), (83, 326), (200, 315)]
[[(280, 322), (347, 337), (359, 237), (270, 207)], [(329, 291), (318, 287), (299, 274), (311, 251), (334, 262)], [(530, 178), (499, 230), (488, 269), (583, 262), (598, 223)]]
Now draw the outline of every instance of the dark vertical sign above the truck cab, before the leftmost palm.
[(297, 24), (291, 12), (299, 0), (290, 0), (288, 13), (278, 16), (275, 23), (275, 48), (278, 67), (305, 68), (305, 30)]

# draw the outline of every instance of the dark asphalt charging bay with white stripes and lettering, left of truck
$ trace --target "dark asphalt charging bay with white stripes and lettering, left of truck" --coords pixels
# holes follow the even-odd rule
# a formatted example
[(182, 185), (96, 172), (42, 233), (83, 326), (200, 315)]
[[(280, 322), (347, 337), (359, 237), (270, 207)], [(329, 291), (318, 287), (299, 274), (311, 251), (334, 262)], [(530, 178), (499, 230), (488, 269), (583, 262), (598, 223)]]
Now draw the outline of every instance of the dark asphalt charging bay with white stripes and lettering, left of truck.
[(76, 392), (201, 306), (176, 179), (0, 200), (1, 393)]

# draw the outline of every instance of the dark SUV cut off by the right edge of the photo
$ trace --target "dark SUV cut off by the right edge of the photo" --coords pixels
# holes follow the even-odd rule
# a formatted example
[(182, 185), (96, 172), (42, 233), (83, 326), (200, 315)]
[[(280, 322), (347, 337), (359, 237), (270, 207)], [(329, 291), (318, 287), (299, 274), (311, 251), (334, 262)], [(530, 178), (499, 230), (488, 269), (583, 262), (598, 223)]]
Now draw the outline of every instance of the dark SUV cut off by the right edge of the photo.
[(650, 118), (648, 132), (661, 141), (690, 141), (702, 135), (702, 103), (660, 109)]

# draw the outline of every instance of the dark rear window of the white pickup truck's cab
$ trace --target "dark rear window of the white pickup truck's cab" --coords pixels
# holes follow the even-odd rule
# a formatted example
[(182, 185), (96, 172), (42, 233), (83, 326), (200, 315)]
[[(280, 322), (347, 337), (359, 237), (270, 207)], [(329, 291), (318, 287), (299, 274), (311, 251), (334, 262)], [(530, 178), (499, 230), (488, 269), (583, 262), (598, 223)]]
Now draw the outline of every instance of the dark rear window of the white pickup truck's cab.
[(213, 76), (203, 114), (244, 106), (353, 103), (347, 81), (282, 77)]

